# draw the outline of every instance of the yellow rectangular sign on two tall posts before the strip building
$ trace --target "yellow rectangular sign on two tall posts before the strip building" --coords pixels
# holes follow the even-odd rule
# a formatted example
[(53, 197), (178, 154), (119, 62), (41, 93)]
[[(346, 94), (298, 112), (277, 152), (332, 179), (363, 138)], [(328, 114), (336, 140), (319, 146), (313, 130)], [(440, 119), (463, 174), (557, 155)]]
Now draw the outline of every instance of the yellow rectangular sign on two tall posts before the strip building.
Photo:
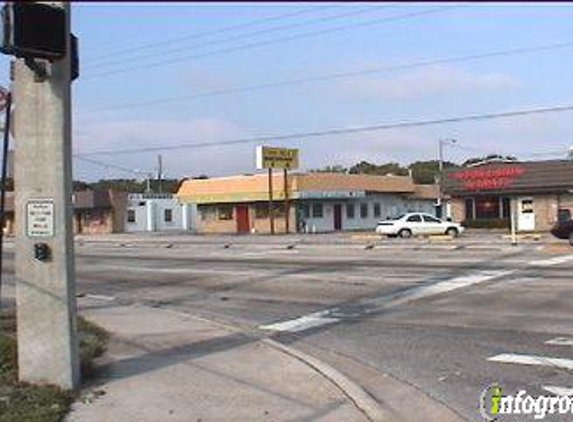
[(285, 232), (290, 231), (290, 203), (288, 193), (288, 170), (298, 168), (298, 149), (273, 148), (259, 146), (256, 150), (257, 168), (269, 171), (269, 219), (271, 234), (275, 233), (275, 220), (273, 210), (273, 169), (283, 169), (284, 177), (284, 207)]

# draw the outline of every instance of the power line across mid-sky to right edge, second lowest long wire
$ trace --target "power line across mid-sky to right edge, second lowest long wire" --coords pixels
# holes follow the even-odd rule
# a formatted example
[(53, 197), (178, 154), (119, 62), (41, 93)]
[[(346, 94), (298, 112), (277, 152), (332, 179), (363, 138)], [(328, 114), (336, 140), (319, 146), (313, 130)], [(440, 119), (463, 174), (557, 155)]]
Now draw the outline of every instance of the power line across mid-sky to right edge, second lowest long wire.
[(481, 54), (473, 54), (467, 56), (457, 56), (457, 57), (449, 57), (449, 58), (439, 58), (439, 59), (430, 59), (424, 61), (418, 61), (413, 63), (405, 63), (401, 65), (395, 66), (386, 66), (381, 68), (371, 68), (371, 69), (364, 69), (364, 70), (357, 70), (357, 71), (350, 71), (350, 72), (338, 72), (338, 73), (330, 73), (324, 75), (316, 75), (310, 76), (306, 78), (298, 78), (298, 79), (291, 79), (285, 81), (278, 81), (278, 82), (269, 82), (265, 84), (259, 85), (247, 85), (243, 87), (235, 87), (229, 89), (220, 89), (214, 91), (207, 91), (200, 94), (193, 94), (193, 95), (185, 95), (179, 97), (170, 97), (170, 98), (161, 98), (158, 100), (149, 100), (149, 101), (142, 101), (142, 102), (133, 102), (133, 103), (124, 103), (118, 104), (116, 106), (110, 107), (102, 107), (99, 109), (89, 110), (87, 113), (99, 113), (102, 111), (115, 111), (121, 110), (126, 108), (139, 108), (139, 107), (149, 107), (158, 104), (165, 104), (171, 102), (179, 102), (179, 101), (186, 101), (186, 100), (194, 100), (199, 98), (209, 98), (209, 97), (217, 97), (217, 96), (224, 96), (230, 94), (240, 94), (240, 93), (248, 93), (253, 91), (260, 91), (264, 89), (270, 88), (281, 88), (286, 86), (293, 86), (293, 85), (301, 85), (307, 83), (314, 83), (314, 82), (324, 82), (329, 80), (335, 79), (344, 79), (350, 78), (354, 76), (364, 76), (370, 74), (379, 74), (384, 72), (391, 72), (396, 70), (411, 70), (411, 69), (418, 69), (428, 66), (436, 66), (442, 64), (449, 64), (449, 63), (461, 63), (466, 61), (473, 61), (473, 60), (483, 60), (493, 57), (506, 57), (506, 56), (515, 56), (520, 54), (529, 54), (529, 53), (536, 53), (536, 52), (543, 52), (543, 51), (551, 51), (557, 49), (564, 49), (564, 48), (571, 48), (573, 47), (573, 41), (567, 41), (557, 44), (546, 44), (540, 46), (533, 46), (533, 47), (522, 47), (522, 48), (513, 48), (508, 50), (497, 50), (492, 51), (489, 53), (481, 53)]

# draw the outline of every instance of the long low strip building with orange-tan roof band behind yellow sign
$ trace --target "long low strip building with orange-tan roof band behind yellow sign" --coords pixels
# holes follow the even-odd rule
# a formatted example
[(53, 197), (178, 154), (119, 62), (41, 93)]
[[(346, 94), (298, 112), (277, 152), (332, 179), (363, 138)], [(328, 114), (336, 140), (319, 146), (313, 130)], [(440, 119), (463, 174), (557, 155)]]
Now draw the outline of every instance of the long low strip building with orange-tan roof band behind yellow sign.
[[(286, 232), (284, 178), (273, 174), (277, 233)], [(292, 174), (288, 178), (289, 231), (374, 229), (380, 220), (406, 212), (434, 213), (438, 190), (405, 176), (338, 173)], [(177, 193), (197, 205), (198, 233), (268, 233), (269, 183), (264, 174), (186, 180)]]

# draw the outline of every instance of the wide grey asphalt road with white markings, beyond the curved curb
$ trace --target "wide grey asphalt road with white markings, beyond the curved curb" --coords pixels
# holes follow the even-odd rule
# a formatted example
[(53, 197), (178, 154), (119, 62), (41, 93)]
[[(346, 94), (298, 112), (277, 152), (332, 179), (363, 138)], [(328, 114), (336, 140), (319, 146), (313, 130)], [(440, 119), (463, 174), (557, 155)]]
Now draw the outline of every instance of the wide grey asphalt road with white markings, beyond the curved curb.
[[(573, 388), (573, 250), (566, 247), (288, 249), (273, 240), (225, 248), (182, 240), (78, 246), (78, 293), (239, 325), (318, 358), (339, 355), (469, 421), (480, 420), (479, 395), (492, 383), (512, 394)], [(6, 257), (10, 272), (10, 251)]]

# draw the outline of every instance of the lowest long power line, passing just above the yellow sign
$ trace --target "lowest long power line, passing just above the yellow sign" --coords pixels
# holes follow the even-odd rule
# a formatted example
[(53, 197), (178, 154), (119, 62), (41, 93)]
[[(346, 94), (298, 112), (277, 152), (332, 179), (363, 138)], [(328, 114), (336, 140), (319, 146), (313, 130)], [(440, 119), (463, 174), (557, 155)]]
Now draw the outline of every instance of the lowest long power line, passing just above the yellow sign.
[(409, 122), (406, 121), (406, 122), (398, 122), (398, 123), (384, 123), (384, 124), (377, 124), (377, 125), (373, 125), (373, 126), (362, 126), (362, 127), (358, 127), (358, 128), (352, 128), (352, 129), (327, 129), (327, 130), (316, 131), (316, 132), (299, 132), (299, 133), (290, 133), (290, 134), (285, 134), (285, 135), (258, 136), (258, 137), (253, 137), (253, 138), (232, 139), (232, 140), (227, 140), (227, 141), (200, 142), (200, 143), (192, 143), (192, 144), (186, 143), (186, 144), (168, 145), (168, 146), (161, 146), (161, 147), (132, 148), (132, 149), (123, 149), (123, 150), (100, 150), (100, 151), (93, 151), (93, 152), (87, 152), (87, 153), (80, 153), (77, 155), (85, 157), (85, 156), (91, 156), (91, 155), (136, 154), (136, 153), (144, 153), (144, 152), (174, 151), (174, 150), (182, 150), (182, 149), (208, 148), (208, 147), (215, 147), (215, 146), (253, 144), (253, 143), (258, 143), (258, 142), (284, 141), (284, 140), (290, 140), (290, 139), (347, 135), (347, 134), (354, 134), (354, 133), (375, 132), (375, 131), (390, 130), (390, 129), (406, 129), (406, 128), (415, 128), (415, 127), (424, 127), (424, 126), (435, 126), (435, 125), (442, 125), (442, 124), (452, 124), (452, 123), (462, 123), (462, 122), (471, 122), (471, 121), (482, 121), (482, 120), (490, 120), (490, 119), (528, 116), (528, 115), (535, 115), (535, 114), (559, 113), (559, 112), (566, 112), (566, 111), (573, 111), (573, 105), (542, 107), (542, 108), (508, 111), (508, 112), (501, 112), (501, 113), (470, 114), (470, 115), (465, 115), (465, 116), (447, 117), (447, 118), (433, 119), (433, 120), (418, 120), (418, 121), (409, 121)]

